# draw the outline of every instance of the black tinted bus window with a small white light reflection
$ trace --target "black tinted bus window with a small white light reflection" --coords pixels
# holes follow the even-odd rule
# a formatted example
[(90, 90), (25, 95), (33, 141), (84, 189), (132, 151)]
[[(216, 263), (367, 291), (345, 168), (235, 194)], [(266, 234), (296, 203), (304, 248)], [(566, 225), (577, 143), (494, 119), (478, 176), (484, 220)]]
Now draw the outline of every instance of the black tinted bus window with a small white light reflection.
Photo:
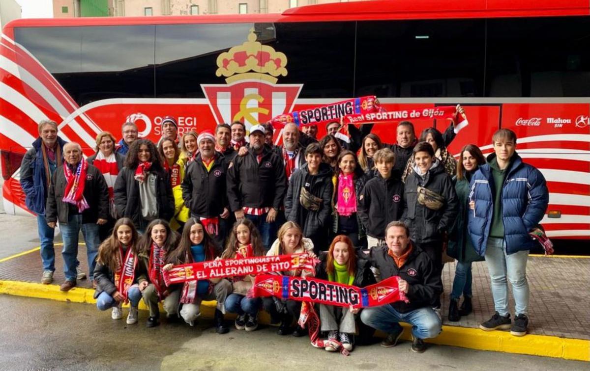
[(481, 97), (485, 21), (358, 22), (355, 96)]

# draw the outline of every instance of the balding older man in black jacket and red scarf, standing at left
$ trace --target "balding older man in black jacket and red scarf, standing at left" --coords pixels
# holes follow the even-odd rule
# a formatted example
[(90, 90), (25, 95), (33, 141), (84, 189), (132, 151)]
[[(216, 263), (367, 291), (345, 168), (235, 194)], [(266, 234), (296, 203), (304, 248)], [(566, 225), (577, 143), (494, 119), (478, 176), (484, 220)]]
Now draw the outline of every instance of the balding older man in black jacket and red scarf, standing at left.
[(68, 291), (76, 286), (80, 230), (86, 242), (90, 279), (93, 278), (100, 244), (99, 226), (109, 217), (109, 188), (103, 174), (82, 158), (79, 144), (64, 145), (64, 159), (65, 164), (51, 178), (45, 219), (51, 228), (60, 222), (65, 275), (60, 290)]

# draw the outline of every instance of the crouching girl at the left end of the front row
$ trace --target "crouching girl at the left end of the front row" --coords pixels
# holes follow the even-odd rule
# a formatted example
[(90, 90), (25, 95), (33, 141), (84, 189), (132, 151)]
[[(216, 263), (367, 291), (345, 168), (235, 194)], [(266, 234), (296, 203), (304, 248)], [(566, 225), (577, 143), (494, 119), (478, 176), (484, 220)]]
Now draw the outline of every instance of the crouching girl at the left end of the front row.
[(120, 218), (113, 233), (100, 244), (94, 278), (94, 299), (100, 310), (113, 308), (111, 318), (119, 320), (123, 302), (131, 307), (127, 324), (137, 323), (137, 305), (142, 299), (140, 287), (148, 286), (146, 267), (137, 258), (137, 230), (130, 218)]

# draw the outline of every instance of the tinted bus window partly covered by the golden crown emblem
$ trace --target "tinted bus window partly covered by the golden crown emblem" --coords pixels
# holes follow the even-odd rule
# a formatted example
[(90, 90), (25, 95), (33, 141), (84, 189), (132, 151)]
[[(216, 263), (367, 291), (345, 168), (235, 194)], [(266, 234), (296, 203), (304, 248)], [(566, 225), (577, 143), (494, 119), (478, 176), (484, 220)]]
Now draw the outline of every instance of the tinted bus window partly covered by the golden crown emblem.
[(352, 22), (158, 25), (156, 95), (204, 98), (200, 84), (225, 84), (215, 75), (217, 57), (246, 42), (252, 28), (256, 41), (287, 57), (287, 75), (277, 84), (304, 84), (300, 98), (352, 95)]

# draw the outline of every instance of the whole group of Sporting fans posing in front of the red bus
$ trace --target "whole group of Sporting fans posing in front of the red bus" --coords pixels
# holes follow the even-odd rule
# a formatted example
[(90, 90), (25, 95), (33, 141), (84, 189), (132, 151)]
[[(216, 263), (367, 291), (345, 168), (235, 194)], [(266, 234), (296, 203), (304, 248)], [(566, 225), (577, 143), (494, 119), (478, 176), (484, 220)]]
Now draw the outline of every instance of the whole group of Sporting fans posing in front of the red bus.
[(409, 299), (360, 311), (319, 305), (321, 330), (332, 340), (326, 350), (336, 350), (335, 343), (352, 350), (357, 327), (360, 335), (382, 330), (388, 334), (382, 346), (395, 346), (399, 322), (407, 322), (412, 350), (424, 352), (423, 340), (441, 331), (447, 257), (457, 259), (450, 321), (473, 311), (471, 263), (485, 259), (496, 313), (481, 329), (526, 334), (526, 263), (534, 244), (528, 233), (545, 213), (548, 190), (543, 175), (516, 154), (516, 134), (500, 129), (491, 138), (493, 154), (484, 158), (470, 144), (457, 161), (446, 149), (453, 122), (444, 133), (428, 128), (419, 138), (411, 122), (399, 122), (395, 144), (382, 143), (371, 124), (349, 125), (349, 136), (339, 127), (330, 122), (329, 134), (317, 140), (317, 127), (287, 124), (275, 145), (270, 124), (251, 127), (248, 140), (240, 121), (179, 137), (175, 118), (166, 117), (157, 144), (126, 122), (118, 143), (100, 132), (96, 153), (84, 158), (79, 144), (58, 136), (55, 122), (42, 121), (20, 174), (27, 207), (37, 214), (41, 282), (53, 282), (59, 223), (60, 289), (86, 278), (77, 260), (81, 230), (97, 307), (112, 308), (113, 319), (129, 302), (127, 323), (136, 323), (143, 298), (148, 327), (159, 324), (159, 302), (168, 320), (192, 325), (202, 300), (215, 299), (218, 333), (229, 330), (225, 313), (237, 314), (236, 329), (253, 331), (264, 309), (280, 324), (279, 334), (301, 336), (307, 330), (293, 326), (301, 303), (247, 296), (253, 276), (175, 287), (166, 286), (163, 272), (192, 262), (307, 252), (322, 261), (315, 271), (281, 274), (359, 287), (399, 276)]

